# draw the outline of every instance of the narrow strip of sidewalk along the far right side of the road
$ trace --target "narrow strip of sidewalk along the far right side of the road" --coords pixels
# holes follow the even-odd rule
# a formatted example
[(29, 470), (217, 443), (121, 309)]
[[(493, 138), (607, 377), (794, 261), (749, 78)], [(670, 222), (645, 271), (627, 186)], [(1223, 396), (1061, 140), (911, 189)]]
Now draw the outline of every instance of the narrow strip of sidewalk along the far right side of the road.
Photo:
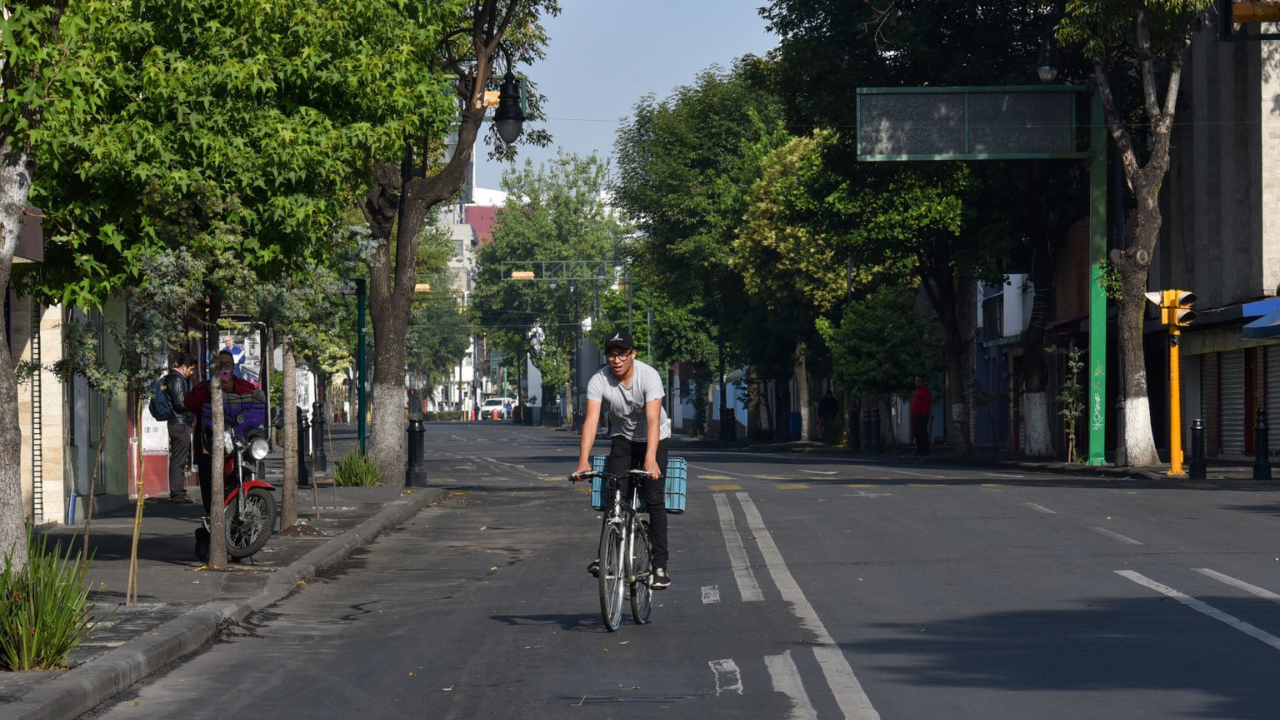
[[(1064, 473), (1075, 475), (1103, 475), (1111, 478), (1130, 478), (1139, 480), (1161, 480), (1169, 483), (1181, 483), (1193, 484), (1199, 480), (1190, 480), (1185, 475), (1187, 461), (1183, 461), (1183, 475), (1170, 475), (1169, 464), (1164, 462), (1161, 465), (1153, 465), (1149, 468), (1126, 468), (1116, 466), (1115, 464), (1106, 464), (1100, 466), (1084, 465), (1083, 462), (1062, 462), (1056, 459), (1030, 459), (1021, 455), (1014, 455), (1009, 452), (1001, 452), (998, 456), (995, 455), (991, 447), (979, 447), (974, 451), (972, 456), (964, 457), (955, 454), (954, 448), (947, 446), (934, 446), (931, 448), (931, 454), (925, 456), (916, 456), (913, 454), (914, 447), (893, 450), (888, 448), (878, 455), (870, 455), (868, 452), (852, 451), (847, 447), (829, 446), (820, 442), (813, 441), (791, 441), (791, 442), (777, 442), (777, 443), (748, 443), (740, 442), (737, 445), (724, 445), (716, 438), (689, 438), (682, 436), (672, 436), (672, 448), (676, 447), (703, 447), (703, 448), (722, 448), (722, 450), (736, 450), (741, 452), (794, 452), (800, 455), (835, 455), (842, 457), (858, 457), (863, 460), (869, 460), (874, 462), (893, 462), (902, 465), (963, 465), (972, 468), (1002, 468), (1014, 470), (1030, 470), (1037, 473)], [(1271, 483), (1280, 484), (1280, 461), (1274, 460), (1270, 480)], [(1247, 482), (1251, 484), (1261, 486), (1267, 483), (1267, 480), (1254, 480), (1253, 479), (1253, 462), (1242, 460), (1221, 460), (1210, 459), (1207, 460), (1207, 478), (1203, 482)]]

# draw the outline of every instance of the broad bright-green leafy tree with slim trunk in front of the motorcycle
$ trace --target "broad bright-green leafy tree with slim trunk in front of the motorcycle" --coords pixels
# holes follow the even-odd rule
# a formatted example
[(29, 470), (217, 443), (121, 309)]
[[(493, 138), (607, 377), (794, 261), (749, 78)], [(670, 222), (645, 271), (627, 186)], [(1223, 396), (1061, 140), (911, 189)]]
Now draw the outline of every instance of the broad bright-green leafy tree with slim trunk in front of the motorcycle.
[(223, 300), (247, 305), (255, 279), (301, 282), (325, 263), (375, 159), (447, 126), (449, 79), (426, 59), (458, 8), (77, 4), (72, 56), (96, 73), (101, 101), (91, 114), (54, 106), (37, 137), (36, 197), (55, 231), (36, 290), (93, 307), (146, 282), (142, 258), (183, 247), (206, 268), (214, 333)]

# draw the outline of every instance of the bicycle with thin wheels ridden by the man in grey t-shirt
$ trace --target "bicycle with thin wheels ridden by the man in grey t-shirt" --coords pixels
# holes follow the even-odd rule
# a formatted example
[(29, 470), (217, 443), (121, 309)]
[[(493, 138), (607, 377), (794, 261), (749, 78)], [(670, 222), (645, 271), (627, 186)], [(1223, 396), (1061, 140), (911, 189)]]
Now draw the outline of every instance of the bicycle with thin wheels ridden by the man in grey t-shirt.
[[(630, 470), (631, 479), (649, 479), (644, 470)], [(622, 585), (626, 583), (631, 594), (631, 619), (636, 625), (649, 623), (653, 611), (653, 542), (649, 539), (649, 524), (640, 519), (635, 509), (640, 498), (640, 487), (632, 489), (631, 502), (622, 500), (623, 475), (590, 471), (571, 475), (571, 482), (600, 478), (604, 480), (605, 512), (600, 527), (600, 615), (609, 632), (622, 623)]]

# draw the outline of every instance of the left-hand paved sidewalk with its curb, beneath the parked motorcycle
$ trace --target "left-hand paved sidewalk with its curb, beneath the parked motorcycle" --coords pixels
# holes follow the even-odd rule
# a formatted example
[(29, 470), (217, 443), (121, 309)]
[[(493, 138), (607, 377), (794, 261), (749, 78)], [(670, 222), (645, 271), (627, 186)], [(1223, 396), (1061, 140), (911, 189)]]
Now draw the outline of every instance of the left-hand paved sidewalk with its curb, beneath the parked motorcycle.
[[(355, 430), (339, 428), (333, 433), (328, 477), (337, 457), (355, 445)], [(279, 486), (282, 468), (276, 452), (268, 459), (266, 479)], [(0, 720), (65, 720), (88, 712), (198, 650), (224, 623), (279, 602), (301, 580), (340, 562), (447, 492), (404, 488), (402, 477), (372, 488), (334, 488), (326, 479), (317, 479), (317, 486), (315, 492), (298, 491), (298, 518), (307, 532), (271, 536), (252, 562), (230, 565), (227, 573), (211, 573), (195, 557), (195, 529), (204, 512), (198, 500), (192, 505), (148, 500), (138, 542), (138, 602), (132, 606), (119, 603), (128, 578), (133, 509), (95, 518), (88, 585), (96, 591), (93, 615), (100, 621), (72, 652), (70, 670), (0, 673)], [(65, 550), (68, 543), (79, 547), (82, 530), (56, 525), (44, 534)]]

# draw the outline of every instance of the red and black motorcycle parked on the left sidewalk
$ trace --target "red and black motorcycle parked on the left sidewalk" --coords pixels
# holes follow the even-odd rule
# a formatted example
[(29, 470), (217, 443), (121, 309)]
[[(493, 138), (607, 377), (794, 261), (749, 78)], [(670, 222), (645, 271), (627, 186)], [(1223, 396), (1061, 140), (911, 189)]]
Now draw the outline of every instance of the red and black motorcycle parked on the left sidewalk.
[[(260, 395), (253, 393), (253, 395)], [(230, 396), (227, 402), (223, 432), (223, 528), (227, 555), (233, 562), (253, 556), (262, 550), (275, 529), (275, 488), (257, 479), (253, 465), (266, 457), (270, 445), (266, 439), (266, 405), (253, 395)], [(242, 398), (250, 398), (248, 401)], [(205, 406), (207, 411), (207, 405)], [(204, 447), (212, 446), (212, 427), (207, 416), (204, 423)], [(196, 529), (196, 557), (209, 561), (209, 518)]]

